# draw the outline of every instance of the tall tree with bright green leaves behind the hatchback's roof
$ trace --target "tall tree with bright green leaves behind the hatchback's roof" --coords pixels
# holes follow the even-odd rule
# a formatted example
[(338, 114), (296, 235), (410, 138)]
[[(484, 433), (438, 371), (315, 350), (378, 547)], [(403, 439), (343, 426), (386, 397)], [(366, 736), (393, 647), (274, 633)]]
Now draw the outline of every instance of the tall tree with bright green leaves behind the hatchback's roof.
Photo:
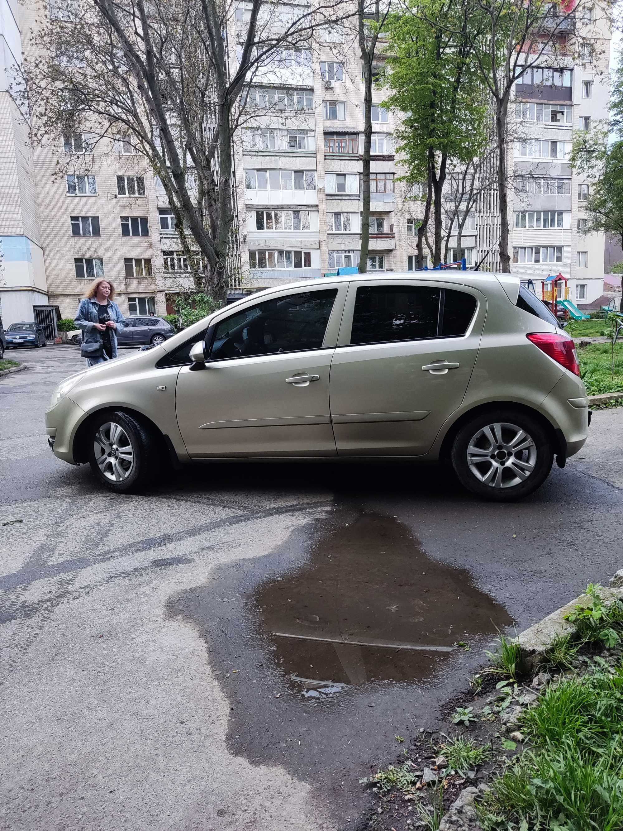
[(433, 264), (443, 257), (444, 184), (456, 163), (482, 155), (488, 139), (488, 91), (475, 61), (469, 3), (414, 0), (410, 13), (385, 22), (390, 57), (386, 104), (405, 113), (396, 131), (407, 166), (406, 179), (422, 188), (421, 241), (433, 214)]

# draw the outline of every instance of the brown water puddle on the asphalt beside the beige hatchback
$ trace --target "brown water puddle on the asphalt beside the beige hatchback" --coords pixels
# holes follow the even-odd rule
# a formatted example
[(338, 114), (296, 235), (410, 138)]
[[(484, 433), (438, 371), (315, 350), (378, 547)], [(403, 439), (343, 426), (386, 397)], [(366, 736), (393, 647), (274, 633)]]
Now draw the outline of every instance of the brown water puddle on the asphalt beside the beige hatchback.
[(263, 583), (254, 600), (277, 665), (312, 698), (421, 681), (459, 644), (513, 622), (467, 572), (434, 562), (378, 514), (326, 534), (304, 568)]

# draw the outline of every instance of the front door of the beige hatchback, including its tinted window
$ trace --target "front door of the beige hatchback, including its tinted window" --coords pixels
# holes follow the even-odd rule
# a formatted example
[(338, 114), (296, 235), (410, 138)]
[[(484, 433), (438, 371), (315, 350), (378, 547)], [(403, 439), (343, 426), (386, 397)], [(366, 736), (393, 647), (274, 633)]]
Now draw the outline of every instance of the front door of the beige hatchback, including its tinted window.
[(329, 371), (347, 286), (282, 290), (218, 317), (210, 359), (179, 371), (190, 456), (336, 455)]

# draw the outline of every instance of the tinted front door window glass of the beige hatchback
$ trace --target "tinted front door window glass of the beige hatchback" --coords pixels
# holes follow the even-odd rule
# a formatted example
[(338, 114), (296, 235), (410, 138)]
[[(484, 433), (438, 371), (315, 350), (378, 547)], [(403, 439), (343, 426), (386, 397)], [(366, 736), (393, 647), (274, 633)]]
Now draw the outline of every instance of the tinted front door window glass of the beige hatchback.
[(320, 349), (336, 288), (291, 294), (258, 303), (218, 322), (212, 359)]

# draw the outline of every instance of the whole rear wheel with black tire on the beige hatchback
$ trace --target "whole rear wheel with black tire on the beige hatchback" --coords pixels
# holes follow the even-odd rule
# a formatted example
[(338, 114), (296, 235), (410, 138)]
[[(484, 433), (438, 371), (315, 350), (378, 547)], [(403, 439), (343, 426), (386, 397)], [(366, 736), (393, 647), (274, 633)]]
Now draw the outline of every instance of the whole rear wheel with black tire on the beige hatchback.
[(513, 502), (541, 487), (554, 450), (539, 420), (509, 408), (480, 413), (464, 424), (451, 457), (464, 488), (491, 502)]

